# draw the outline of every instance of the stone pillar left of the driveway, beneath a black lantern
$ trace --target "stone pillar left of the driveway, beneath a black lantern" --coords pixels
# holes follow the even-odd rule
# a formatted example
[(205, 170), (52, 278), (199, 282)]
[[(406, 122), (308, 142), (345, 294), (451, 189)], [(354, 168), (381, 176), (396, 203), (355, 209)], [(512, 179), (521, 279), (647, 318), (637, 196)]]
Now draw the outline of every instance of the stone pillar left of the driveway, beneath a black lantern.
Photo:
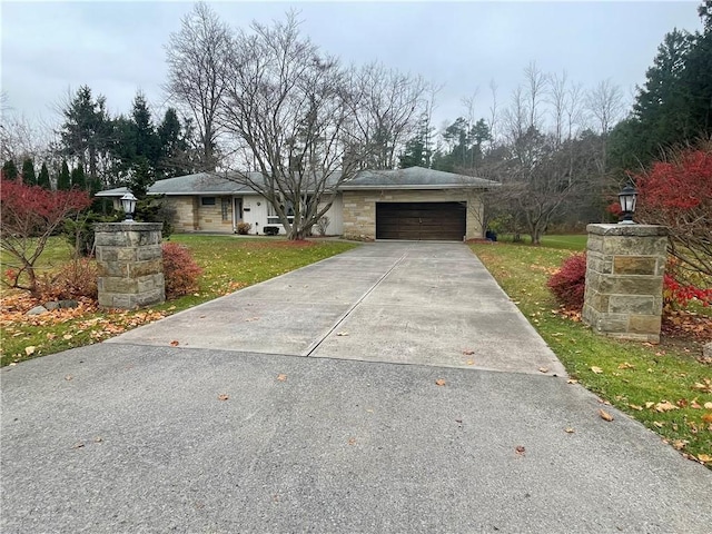
[(135, 309), (166, 300), (160, 222), (95, 226), (99, 306)]

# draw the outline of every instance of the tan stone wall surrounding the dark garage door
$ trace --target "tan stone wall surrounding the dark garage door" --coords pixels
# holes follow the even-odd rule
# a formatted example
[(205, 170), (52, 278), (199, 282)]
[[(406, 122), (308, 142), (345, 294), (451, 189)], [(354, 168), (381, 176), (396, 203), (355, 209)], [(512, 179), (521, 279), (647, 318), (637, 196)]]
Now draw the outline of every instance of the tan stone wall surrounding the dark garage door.
[(483, 237), (482, 195), (462, 190), (344, 191), (344, 236), (376, 237), (376, 202), (467, 202), (466, 239)]

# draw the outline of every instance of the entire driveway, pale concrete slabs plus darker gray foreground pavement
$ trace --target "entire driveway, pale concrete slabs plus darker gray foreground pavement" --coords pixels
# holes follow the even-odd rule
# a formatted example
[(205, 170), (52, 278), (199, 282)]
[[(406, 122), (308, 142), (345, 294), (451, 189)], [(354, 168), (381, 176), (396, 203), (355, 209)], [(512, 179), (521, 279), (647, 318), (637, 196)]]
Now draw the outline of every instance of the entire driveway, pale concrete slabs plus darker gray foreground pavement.
[(712, 472), (602, 421), (462, 245), (367, 245), (0, 377), (3, 533), (710, 532)]

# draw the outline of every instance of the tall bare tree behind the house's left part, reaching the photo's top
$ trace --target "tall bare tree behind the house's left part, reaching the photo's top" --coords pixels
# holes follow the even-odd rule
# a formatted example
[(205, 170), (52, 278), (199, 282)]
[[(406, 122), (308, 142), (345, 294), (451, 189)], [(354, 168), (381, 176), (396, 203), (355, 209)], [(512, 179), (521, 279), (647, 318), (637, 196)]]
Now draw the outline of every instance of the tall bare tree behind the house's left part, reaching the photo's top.
[(215, 170), (220, 127), (217, 121), (230, 49), (230, 30), (204, 2), (182, 19), (179, 32), (166, 46), (168, 82), (164, 89), (192, 117), (200, 140), (201, 167)]

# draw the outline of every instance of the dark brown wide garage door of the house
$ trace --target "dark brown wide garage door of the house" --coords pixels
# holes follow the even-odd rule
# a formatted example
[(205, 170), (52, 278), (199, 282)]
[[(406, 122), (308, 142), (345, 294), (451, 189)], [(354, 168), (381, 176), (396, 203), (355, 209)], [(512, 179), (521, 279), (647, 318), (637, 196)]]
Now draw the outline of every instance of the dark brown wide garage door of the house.
[(466, 202), (376, 202), (376, 239), (462, 241)]

